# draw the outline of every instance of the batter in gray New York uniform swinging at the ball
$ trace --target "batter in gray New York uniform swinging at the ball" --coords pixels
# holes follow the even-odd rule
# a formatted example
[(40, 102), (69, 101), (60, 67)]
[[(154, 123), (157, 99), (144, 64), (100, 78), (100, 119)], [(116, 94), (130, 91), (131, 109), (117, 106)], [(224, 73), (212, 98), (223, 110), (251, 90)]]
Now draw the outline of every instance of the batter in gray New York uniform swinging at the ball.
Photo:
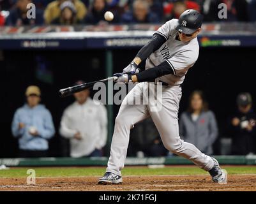
[[(227, 171), (220, 168), (218, 161), (200, 152), (195, 145), (184, 142), (179, 136), (178, 111), (181, 99), (181, 84), (186, 72), (197, 61), (202, 15), (195, 10), (184, 11), (179, 19), (166, 22), (153, 34), (123, 69), (116, 73), (116, 82), (139, 82), (124, 98), (116, 117), (111, 151), (105, 175), (98, 184), (121, 184), (121, 170), (124, 168), (130, 129), (137, 122), (151, 117), (160, 133), (163, 145), (170, 152), (189, 159), (203, 170), (209, 171), (213, 182), (227, 184)], [(146, 59), (145, 71), (139, 72), (138, 65)], [(130, 105), (130, 101), (142, 98), (149, 91), (149, 83), (162, 84), (162, 108), (151, 111), (151, 105)], [(142, 94), (136, 94), (141, 92)]]

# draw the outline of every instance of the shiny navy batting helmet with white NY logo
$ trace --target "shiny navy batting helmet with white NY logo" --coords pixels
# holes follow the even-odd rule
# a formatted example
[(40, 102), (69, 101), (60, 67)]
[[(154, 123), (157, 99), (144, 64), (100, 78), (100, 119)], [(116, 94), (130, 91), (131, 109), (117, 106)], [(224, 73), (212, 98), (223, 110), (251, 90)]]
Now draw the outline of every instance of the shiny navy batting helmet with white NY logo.
[(199, 11), (193, 9), (186, 10), (181, 13), (176, 30), (181, 33), (192, 34), (201, 27), (202, 18), (202, 14)]

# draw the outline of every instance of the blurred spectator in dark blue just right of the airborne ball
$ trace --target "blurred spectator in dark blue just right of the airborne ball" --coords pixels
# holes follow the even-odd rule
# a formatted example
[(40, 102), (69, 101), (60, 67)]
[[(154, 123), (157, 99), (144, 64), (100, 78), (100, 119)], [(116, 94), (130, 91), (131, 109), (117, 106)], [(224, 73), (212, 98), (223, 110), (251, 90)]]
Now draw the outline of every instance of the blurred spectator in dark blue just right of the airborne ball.
[(121, 22), (126, 24), (146, 24), (158, 23), (160, 19), (150, 10), (149, 3), (146, 0), (135, 0), (133, 2), (133, 11), (123, 14)]

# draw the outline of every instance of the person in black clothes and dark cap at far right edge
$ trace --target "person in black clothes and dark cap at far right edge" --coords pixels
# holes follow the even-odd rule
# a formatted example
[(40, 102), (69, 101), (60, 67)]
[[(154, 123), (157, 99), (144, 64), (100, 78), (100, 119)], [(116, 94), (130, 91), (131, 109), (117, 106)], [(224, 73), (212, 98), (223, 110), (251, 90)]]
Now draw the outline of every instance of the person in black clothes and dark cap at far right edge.
[(234, 155), (256, 153), (256, 115), (252, 110), (252, 96), (243, 92), (237, 96), (237, 113), (229, 120)]

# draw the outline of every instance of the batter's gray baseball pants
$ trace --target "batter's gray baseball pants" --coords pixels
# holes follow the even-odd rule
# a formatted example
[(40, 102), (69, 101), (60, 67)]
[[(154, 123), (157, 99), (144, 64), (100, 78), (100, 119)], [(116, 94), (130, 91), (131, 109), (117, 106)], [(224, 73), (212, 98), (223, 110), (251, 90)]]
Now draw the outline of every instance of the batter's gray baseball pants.
[[(140, 103), (138, 105), (136, 103), (136, 105), (132, 105), (135, 103), (134, 101), (143, 101), (143, 98), (147, 97), (145, 93), (155, 91), (156, 86), (160, 86), (162, 98), (159, 98), (159, 96), (157, 96), (157, 99), (155, 96), (152, 98), (148, 94), (149, 100), (147, 104)], [(121, 175), (127, 154), (130, 129), (133, 128), (134, 124), (147, 117), (153, 119), (166, 149), (189, 159), (206, 171), (213, 168), (213, 159), (211, 157), (200, 152), (195, 145), (184, 142), (179, 136), (178, 111), (181, 94), (181, 87), (178, 85), (162, 86), (142, 82), (133, 87), (124, 98), (116, 117), (107, 171)], [(158, 104), (156, 105), (156, 103)]]

